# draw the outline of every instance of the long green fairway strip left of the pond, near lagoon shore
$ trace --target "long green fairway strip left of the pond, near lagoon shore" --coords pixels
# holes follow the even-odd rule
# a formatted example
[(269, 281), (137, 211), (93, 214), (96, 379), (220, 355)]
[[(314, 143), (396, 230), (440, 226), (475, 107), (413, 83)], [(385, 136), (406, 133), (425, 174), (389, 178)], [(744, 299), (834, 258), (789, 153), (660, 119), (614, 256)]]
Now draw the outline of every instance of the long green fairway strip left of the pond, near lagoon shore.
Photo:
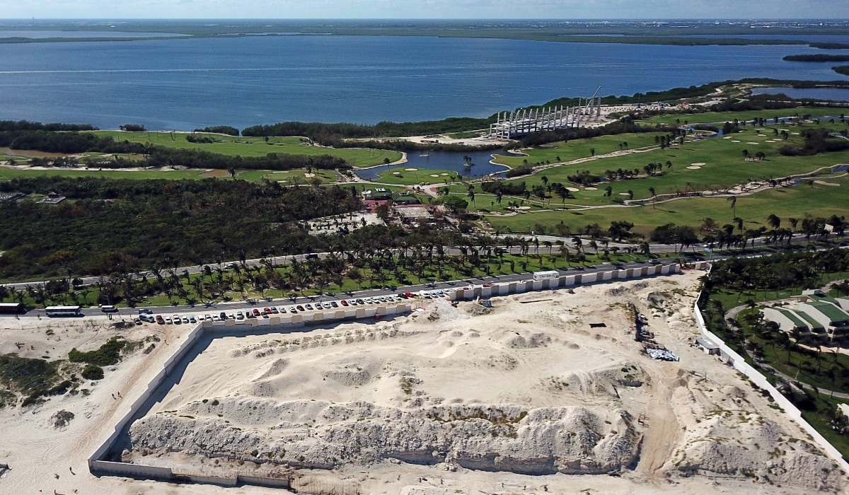
[(93, 131), (100, 137), (111, 136), (115, 141), (131, 141), (134, 143), (153, 143), (178, 149), (203, 149), (211, 153), (221, 155), (239, 156), (265, 156), (269, 153), (280, 153), (289, 155), (333, 155), (351, 162), (353, 166), (380, 165), (384, 159), (390, 161), (401, 160), (402, 154), (398, 151), (386, 149), (351, 149), (351, 148), (325, 148), (323, 146), (307, 146), (301, 143), (301, 138), (268, 138), (266, 143), (263, 138), (240, 138), (238, 136), (225, 136), (222, 134), (209, 134), (196, 132), (198, 138), (214, 138), (220, 143), (189, 143), (186, 141), (188, 133), (185, 132), (123, 132), (123, 131)]

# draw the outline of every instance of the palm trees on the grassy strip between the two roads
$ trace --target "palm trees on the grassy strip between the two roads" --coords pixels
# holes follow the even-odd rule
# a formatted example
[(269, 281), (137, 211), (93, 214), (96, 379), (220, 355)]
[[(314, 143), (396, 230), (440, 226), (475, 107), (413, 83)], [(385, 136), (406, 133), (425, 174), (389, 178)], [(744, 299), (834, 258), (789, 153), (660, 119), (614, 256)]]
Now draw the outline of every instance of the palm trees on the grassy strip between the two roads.
[[(292, 257), (286, 260), (288, 263), (281, 264), (284, 259), (278, 256), (277, 250), (268, 248), (260, 262), (252, 264), (247, 262), (245, 252), (240, 251), (239, 262), (224, 263), (219, 256), (214, 265), (200, 265), (199, 273), (188, 273), (185, 268), (181, 271), (176, 262), (169, 260), (162, 266), (150, 267), (146, 272), (134, 270), (103, 276), (90, 286), (83, 286), (80, 279), (68, 278), (31, 284), (24, 290), (0, 286), (0, 301), (11, 297), (24, 303), (31, 298), (39, 306), (48, 306), (50, 301), (65, 303), (70, 300), (75, 305), (124, 301), (129, 306), (136, 306), (150, 296), (165, 295), (173, 305), (180, 302), (195, 305), (226, 301), (234, 297), (233, 293), (238, 293), (243, 299), (247, 293), (256, 292), (264, 296), (271, 289), (296, 300), (307, 291), (321, 295), (326, 290), (350, 290), (350, 283), (362, 289), (367, 283), (372, 287), (382, 287), (387, 283), (412, 284), (447, 277), (476, 277), (489, 275), (493, 267), (501, 273), (506, 267), (512, 273), (517, 273), (517, 268), (526, 272), (532, 259), (536, 259), (537, 266), (542, 268), (546, 263), (554, 266), (560, 259), (566, 265), (586, 262), (587, 250), (593, 250), (595, 255), (604, 250), (604, 256), (610, 251), (610, 239), (596, 237), (586, 242), (573, 236), (571, 241), (574, 248), (563, 241), (501, 236), (498, 230), (494, 237), (440, 233), (395, 243), (381, 243), (380, 240), (363, 242), (342, 237), (340, 242), (330, 245), (327, 255), (321, 259), (301, 261)], [(540, 248), (548, 250), (548, 256), (543, 256)], [(623, 249), (629, 254), (634, 250), (630, 247)], [(647, 253), (648, 245), (644, 244), (641, 250)], [(449, 254), (449, 251), (457, 254)], [(619, 248), (614, 247), (612, 251), (616, 253)], [(505, 258), (507, 253), (515, 253), (515, 256)]]

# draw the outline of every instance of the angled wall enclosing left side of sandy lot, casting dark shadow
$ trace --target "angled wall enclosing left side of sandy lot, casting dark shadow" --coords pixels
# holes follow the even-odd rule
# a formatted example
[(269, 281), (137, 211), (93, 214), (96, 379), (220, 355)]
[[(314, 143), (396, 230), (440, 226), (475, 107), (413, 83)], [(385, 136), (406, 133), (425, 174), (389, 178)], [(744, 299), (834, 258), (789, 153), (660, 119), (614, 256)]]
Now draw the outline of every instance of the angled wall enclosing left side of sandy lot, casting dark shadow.
[(180, 475), (175, 474), (171, 468), (160, 468), (155, 466), (145, 466), (142, 464), (127, 464), (113, 461), (102, 460), (109, 453), (112, 446), (115, 444), (118, 436), (127, 427), (133, 416), (138, 413), (149, 397), (153, 395), (157, 388), (166, 380), (168, 375), (180, 363), (180, 360), (192, 349), (192, 347), (200, 340), (200, 337), (205, 332), (220, 332), (233, 331), (237, 326), (242, 327), (245, 335), (250, 335), (255, 327), (280, 326), (284, 328), (303, 327), (305, 324), (322, 324), (322, 323), (339, 323), (343, 320), (354, 320), (359, 318), (375, 318), (384, 315), (402, 314), (413, 310), (410, 304), (399, 304), (397, 306), (379, 306), (368, 308), (345, 309), (334, 312), (316, 312), (312, 314), (295, 314), (289, 316), (275, 316), (272, 318), (249, 318), (245, 320), (226, 320), (223, 322), (203, 322), (199, 323), (191, 332), (188, 333), (183, 344), (177, 347), (177, 350), (171, 354), (171, 357), (166, 359), (160, 372), (156, 374), (153, 380), (148, 382), (147, 388), (134, 401), (124, 416), (115, 424), (115, 430), (106, 439), (106, 441), (98, 447), (94, 453), (88, 457), (88, 470), (93, 474), (115, 475), (115, 476), (131, 476), (148, 478), (152, 480), (162, 481), (187, 481), (195, 483), (206, 483), (212, 485), (220, 485), (222, 487), (234, 487), (239, 483), (250, 485), (258, 485), (261, 487), (289, 487), (288, 480), (279, 480), (275, 478), (265, 478), (259, 476), (239, 475), (236, 478), (216, 478), (211, 476), (196, 476), (196, 475)]

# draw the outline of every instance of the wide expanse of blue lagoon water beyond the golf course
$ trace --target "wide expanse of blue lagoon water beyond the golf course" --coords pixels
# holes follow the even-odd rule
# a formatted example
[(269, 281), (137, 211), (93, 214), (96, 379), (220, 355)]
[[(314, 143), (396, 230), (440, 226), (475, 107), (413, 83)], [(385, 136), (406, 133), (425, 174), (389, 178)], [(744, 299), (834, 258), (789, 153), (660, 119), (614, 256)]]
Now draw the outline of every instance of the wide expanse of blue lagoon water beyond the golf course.
[(748, 76), (833, 80), (804, 46), (286, 36), (0, 44), (0, 119), (244, 128), (484, 117), (563, 96)]

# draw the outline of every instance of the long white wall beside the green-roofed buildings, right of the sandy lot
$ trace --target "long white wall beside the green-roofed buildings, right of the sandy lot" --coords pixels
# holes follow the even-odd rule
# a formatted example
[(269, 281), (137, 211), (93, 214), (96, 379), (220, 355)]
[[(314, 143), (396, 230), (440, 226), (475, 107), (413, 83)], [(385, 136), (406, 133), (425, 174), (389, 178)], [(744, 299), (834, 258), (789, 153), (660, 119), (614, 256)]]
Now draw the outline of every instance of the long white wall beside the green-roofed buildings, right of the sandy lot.
[(843, 458), (840, 451), (831, 445), (824, 436), (820, 435), (813, 426), (801, 417), (801, 411), (799, 408), (796, 408), (796, 406), (793, 405), (793, 402), (790, 402), (787, 397), (784, 397), (778, 389), (769, 383), (769, 381), (767, 381), (767, 377), (763, 376), (763, 374), (753, 368), (751, 364), (746, 363), (742, 356), (740, 356), (737, 352), (734, 352), (734, 350), (731, 347), (728, 347), (722, 339), (707, 329), (705, 318), (702, 317), (701, 310), (699, 309), (699, 299), (700, 298), (696, 298), (696, 302), (693, 307), (693, 314), (695, 316), (696, 323), (699, 325), (701, 335), (719, 346), (719, 350), (722, 352), (722, 358), (728, 362), (729, 366), (732, 366), (740, 373), (745, 374), (752, 383), (769, 392), (769, 395), (773, 397), (775, 403), (781, 406), (781, 408), (784, 409), (784, 412), (801, 426), (802, 430), (805, 430), (808, 435), (812, 436), (813, 441), (817, 442), (819, 447), (821, 447), (830, 458), (834, 459), (837, 464), (840, 464), (841, 469), (844, 470), (844, 472), (849, 473), (849, 464), (846, 463), (846, 460)]

